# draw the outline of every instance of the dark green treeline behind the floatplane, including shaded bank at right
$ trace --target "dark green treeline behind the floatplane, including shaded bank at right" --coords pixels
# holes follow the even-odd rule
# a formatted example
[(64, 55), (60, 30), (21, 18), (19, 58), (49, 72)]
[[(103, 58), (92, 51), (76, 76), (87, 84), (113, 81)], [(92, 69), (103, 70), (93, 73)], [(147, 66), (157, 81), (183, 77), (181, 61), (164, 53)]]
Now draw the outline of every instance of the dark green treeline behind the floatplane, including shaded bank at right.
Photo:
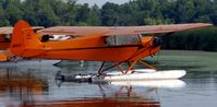
[[(107, 2), (101, 8), (76, 0), (0, 0), (0, 26), (25, 20), (35, 26), (56, 25), (157, 25), (204, 22), (217, 25), (217, 0), (131, 0)], [(177, 33), (166, 49), (217, 51), (217, 27)]]

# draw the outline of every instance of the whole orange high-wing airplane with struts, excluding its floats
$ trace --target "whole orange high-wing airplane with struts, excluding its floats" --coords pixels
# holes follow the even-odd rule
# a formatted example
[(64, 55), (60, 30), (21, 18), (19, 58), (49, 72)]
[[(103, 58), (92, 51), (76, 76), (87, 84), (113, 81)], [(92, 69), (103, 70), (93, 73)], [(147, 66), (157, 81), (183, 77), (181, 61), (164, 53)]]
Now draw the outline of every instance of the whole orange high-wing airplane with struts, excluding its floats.
[[(24, 58), (101, 61), (99, 73), (117, 67), (122, 73), (136, 62), (156, 69), (140, 59), (160, 50), (162, 37), (185, 29), (210, 26), (206, 23), (154, 26), (55, 26), (35, 33), (28, 23), (15, 24), (10, 49)], [(57, 36), (65, 39), (53, 39)], [(106, 61), (113, 62), (104, 68)], [(129, 63), (123, 71), (121, 63)]]

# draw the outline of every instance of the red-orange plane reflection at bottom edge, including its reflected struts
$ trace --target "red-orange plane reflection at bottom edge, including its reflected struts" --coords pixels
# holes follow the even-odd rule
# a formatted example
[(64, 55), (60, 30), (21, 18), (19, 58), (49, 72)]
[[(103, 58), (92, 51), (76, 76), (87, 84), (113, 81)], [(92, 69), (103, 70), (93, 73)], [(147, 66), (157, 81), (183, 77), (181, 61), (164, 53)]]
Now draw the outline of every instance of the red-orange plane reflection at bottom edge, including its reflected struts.
[[(99, 86), (103, 91), (103, 87)], [(84, 90), (84, 88), (81, 88)], [(88, 90), (88, 88), (86, 88)], [(144, 91), (146, 92), (146, 91)], [(155, 88), (150, 88), (147, 94), (155, 92)], [(76, 92), (74, 92), (76, 93)], [(83, 96), (81, 94), (81, 96)], [(73, 96), (72, 96), (73, 97)], [(56, 100), (40, 100), (35, 103), (28, 103), (22, 105), (23, 107), (32, 106), (70, 106), (70, 107), (160, 107), (159, 102), (148, 96), (142, 97), (132, 87), (121, 86), (118, 91), (108, 93), (101, 93), (101, 96), (96, 97), (94, 94), (92, 97), (73, 97), (67, 99), (56, 99)]]

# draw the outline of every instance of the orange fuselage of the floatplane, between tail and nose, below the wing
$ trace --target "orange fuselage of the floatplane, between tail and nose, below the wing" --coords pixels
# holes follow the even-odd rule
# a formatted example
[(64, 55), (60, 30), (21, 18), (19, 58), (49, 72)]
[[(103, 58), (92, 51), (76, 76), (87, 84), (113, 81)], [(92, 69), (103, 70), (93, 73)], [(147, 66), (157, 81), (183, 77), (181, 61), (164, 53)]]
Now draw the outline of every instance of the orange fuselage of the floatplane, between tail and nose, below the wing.
[(134, 61), (159, 51), (153, 46), (153, 37), (138, 43), (108, 45), (104, 36), (77, 37), (62, 41), (41, 43), (44, 52), (36, 58), (87, 61)]

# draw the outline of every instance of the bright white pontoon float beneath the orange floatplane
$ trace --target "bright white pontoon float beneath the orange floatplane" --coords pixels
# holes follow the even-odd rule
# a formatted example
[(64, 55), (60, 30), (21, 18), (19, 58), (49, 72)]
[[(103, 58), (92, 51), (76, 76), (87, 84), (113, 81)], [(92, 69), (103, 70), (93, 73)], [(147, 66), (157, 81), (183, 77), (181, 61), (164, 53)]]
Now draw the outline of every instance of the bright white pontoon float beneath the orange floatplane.
[(120, 71), (107, 73), (105, 81), (141, 81), (141, 80), (177, 80), (186, 74), (184, 70), (155, 71), (152, 69), (138, 69), (122, 74)]

